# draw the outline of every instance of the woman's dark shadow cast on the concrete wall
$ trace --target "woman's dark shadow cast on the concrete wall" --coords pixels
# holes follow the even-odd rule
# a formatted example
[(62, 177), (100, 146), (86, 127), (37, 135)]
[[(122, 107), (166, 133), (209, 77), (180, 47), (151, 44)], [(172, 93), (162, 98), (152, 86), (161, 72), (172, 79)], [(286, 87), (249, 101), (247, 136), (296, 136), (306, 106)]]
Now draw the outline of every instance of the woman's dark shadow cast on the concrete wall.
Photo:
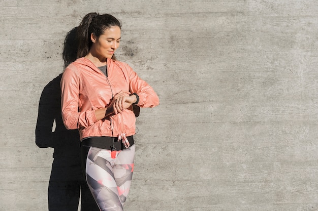
[[(65, 67), (77, 57), (76, 28), (68, 32), (63, 49)], [(60, 79), (62, 73), (44, 88), (36, 125), (36, 144), (40, 148), (54, 148), (51, 176), (48, 187), (49, 211), (100, 210), (83, 177), (80, 160), (78, 130), (67, 130), (61, 117)], [(55, 129), (54, 127), (55, 122)]]

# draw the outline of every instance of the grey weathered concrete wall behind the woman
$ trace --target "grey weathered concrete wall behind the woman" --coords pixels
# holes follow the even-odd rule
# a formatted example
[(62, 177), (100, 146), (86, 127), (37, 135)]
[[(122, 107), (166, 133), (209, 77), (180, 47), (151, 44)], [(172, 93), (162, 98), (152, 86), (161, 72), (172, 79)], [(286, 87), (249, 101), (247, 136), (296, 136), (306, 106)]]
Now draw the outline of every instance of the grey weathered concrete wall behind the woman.
[(93, 11), (123, 22), (117, 58), (161, 99), (137, 120), (126, 210), (318, 210), (316, 3), (2, 0), (0, 210), (48, 209), (39, 100)]

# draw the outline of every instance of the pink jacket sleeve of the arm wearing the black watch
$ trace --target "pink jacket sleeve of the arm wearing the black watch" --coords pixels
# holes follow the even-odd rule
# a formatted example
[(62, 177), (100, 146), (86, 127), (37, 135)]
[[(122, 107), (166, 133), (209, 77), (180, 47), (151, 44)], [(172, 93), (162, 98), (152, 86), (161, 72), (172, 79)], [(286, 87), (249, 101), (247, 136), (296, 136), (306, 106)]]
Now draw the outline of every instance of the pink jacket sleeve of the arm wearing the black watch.
[(159, 98), (148, 83), (142, 80), (133, 69), (126, 64), (129, 70), (130, 92), (139, 96), (138, 106), (142, 108), (154, 107), (159, 105)]

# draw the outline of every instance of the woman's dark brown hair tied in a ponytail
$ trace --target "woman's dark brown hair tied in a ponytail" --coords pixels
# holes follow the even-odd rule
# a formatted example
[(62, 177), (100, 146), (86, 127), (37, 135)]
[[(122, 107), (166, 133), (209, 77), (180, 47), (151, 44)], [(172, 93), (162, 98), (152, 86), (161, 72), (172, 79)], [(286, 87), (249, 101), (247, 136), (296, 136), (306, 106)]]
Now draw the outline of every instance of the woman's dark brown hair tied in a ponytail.
[[(88, 54), (92, 45), (92, 41), (90, 39), (91, 33), (99, 38), (106, 29), (112, 26), (118, 26), (121, 28), (119, 20), (112, 15), (100, 15), (98, 13), (88, 13), (85, 15), (82, 22), (77, 27), (77, 37), (79, 41), (77, 58), (84, 57)], [(112, 59), (116, 59), (114, 55)]]

